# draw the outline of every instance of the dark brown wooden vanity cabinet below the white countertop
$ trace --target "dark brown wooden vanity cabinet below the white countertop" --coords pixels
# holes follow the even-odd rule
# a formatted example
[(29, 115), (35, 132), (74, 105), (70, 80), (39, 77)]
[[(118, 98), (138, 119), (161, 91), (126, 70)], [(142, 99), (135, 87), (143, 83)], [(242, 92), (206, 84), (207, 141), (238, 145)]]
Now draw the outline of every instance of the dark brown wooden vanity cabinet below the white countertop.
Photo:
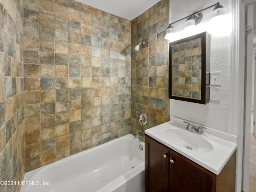
[(236, 152), (216, 175), (145, 134), (145, 192), (234, 192)]

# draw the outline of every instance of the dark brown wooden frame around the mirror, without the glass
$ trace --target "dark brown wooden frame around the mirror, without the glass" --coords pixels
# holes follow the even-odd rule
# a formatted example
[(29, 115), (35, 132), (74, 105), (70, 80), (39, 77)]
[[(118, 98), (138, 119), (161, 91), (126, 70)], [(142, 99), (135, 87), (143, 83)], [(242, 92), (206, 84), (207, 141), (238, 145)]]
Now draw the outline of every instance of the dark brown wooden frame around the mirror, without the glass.
[[(201, 100), (186, 98), (182, 96), (173, 96), (172, 95), (172, 46), (176, 44), (180, 44), (183, 42), (187, 42), (190, 40), (194, 40), (197, 38), (201, 38), (201, 64), (202, 64), (202, 74), (201, 74)], [(190, 36), (187, 38), (183, 38), (174, 42), (169, 43), (169, 98), (182, 100), (187, 102), (194, 102), (200, 104), (207, 104), (209, 102), (210, 97), (210, 34), (207, 32), (203, 32), (200, 34), (196, 34), (194, 36)]]

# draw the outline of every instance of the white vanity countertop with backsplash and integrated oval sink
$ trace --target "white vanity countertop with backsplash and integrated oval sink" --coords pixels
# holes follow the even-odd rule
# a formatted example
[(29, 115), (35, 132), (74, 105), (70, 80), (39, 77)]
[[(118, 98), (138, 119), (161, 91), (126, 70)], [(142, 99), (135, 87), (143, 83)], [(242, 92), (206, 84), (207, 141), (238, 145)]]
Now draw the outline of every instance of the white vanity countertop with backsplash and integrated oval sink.
[[(236, 150), (236, 136), (206, 126), (207, 129), (203, 129), (200, 135), (186, 130), (187, 124), (183, 121), (171, 116), (170, 121), (145, 130), (145, 134), (214, 174), (219, 174)], [(201, 126), (195, 123), (192, 125)]]

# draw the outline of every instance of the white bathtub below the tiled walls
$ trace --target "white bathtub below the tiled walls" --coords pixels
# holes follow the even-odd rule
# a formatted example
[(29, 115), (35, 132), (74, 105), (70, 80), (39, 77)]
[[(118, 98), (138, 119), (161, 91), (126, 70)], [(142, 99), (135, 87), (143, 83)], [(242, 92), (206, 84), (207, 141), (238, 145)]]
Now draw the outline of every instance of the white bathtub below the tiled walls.
[(20, 192), (144, 192), (144, 142), (128, 134), (27, 172)]

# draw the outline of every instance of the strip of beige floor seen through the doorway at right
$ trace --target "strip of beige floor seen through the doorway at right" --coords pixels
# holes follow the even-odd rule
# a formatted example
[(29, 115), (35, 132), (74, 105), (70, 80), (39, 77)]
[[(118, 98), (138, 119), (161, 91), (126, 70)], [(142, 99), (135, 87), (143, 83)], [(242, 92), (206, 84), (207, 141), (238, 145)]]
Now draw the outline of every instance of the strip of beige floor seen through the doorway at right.
[(251, 135), (249, 192), (256, 192), (256, 137)]

